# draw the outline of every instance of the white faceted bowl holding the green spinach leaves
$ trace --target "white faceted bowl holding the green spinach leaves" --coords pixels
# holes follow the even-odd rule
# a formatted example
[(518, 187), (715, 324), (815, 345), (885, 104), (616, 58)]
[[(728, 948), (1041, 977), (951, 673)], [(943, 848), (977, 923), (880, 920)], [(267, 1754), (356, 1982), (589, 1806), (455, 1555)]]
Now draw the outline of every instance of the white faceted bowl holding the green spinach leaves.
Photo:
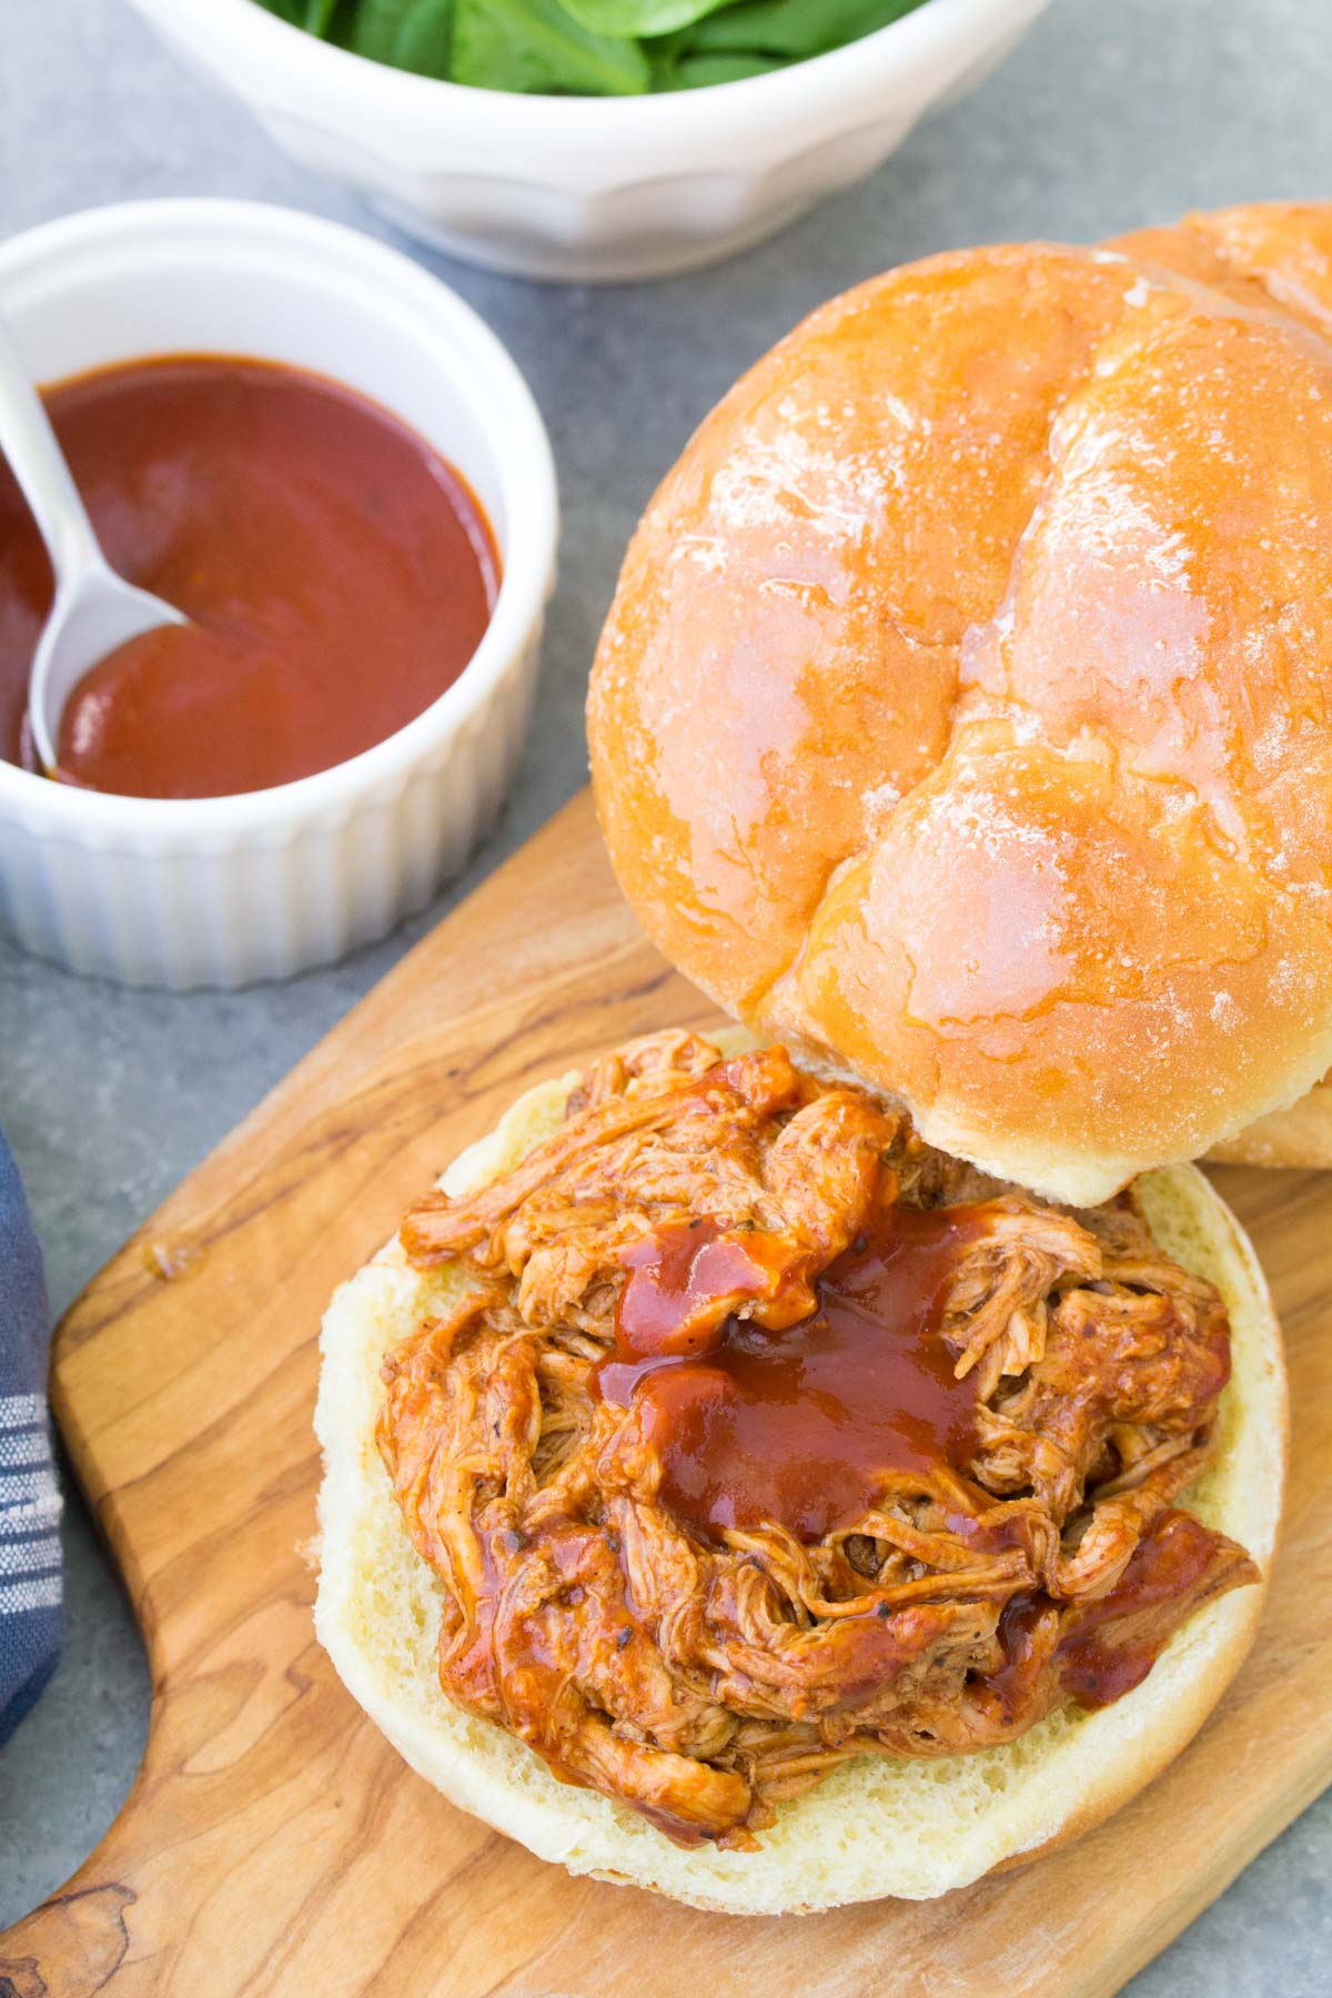
[(132, 0), (294, 158), (401, 228), (525, 278), (659, 278), (731, 256), (873, 172), (1048, 0), (927, 0), (739, 84), (533, 98), (407, 76), (254, 0)]

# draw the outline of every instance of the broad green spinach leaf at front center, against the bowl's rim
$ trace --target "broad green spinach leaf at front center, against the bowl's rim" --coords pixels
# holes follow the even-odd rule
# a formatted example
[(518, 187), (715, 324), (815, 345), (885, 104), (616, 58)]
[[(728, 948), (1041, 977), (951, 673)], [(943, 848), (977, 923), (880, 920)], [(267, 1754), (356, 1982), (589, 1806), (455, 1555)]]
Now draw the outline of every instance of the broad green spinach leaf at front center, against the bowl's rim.
[(453, 0), (453, 82), (541, 96), (639, 96), (651, 88), (637, 42), (591, 34), (559, 0)]

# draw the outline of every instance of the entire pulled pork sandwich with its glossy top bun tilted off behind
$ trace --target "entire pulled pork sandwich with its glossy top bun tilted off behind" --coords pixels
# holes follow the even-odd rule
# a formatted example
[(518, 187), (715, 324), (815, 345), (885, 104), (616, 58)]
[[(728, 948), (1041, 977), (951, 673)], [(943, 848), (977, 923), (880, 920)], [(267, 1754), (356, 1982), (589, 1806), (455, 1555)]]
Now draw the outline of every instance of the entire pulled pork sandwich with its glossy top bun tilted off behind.
[(1332, 1161), (1328, 272), (1332, 206), (933, 258), (653, 500), (597, 809), (773, 1045), (529, 1093), (324, 1329), (320, 1634), (533, 1852), (939, 1894), (1236, 1670), (1284, 1373), (1180, 1161)]

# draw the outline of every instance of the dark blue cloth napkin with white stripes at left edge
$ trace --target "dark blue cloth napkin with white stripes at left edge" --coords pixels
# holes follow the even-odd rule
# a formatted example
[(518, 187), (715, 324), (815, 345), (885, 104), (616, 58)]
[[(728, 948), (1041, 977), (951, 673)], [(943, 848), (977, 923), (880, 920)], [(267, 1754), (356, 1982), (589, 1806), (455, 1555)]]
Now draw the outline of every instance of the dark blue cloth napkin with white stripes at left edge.
[(60, 1656), (60, 1487), (46, 1423), (48, 1345), (42, 1255), (0, 1139), (0, 1744)]

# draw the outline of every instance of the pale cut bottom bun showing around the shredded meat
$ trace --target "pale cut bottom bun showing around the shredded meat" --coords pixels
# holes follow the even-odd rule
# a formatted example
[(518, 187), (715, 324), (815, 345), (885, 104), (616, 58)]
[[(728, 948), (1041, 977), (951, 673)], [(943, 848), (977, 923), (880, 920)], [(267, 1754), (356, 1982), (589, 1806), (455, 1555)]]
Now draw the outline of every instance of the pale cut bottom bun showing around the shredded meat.
[[(563, 1119), (565, 1075), (527, 1091), (441, 1185), (503, 1171)], [(1140, 1183), (1162, 1249), (1220, 1289), (1232, 1381), (1218, 1449), (1184, 1504), (1248, 1548), (1264, 1574), (1192, 1616), (1148, 1678), (1096, 1712), (1066, 1706), (1018, 1740), (947, 1760), (861, 1756), (779, 1806), (759, 1852), (683, 1850), (625, 1804), (559, 1782), (437, 1678), (443, 1584), (415, 1554), (379, 1463), (379, 1363), (467, 1277), (421, 1275), (397, 1241), (345, 1283), (324, 1321), (316, 1431), (324, 1445), (316, 1626), (337, 1672), (401, 1756), (461, 1810), (575, 1874), (629, 1882), (695, 1908), (785, 1914), (853, 1900), (927, 1900), (1090, 1830), (1128, 1802), (1202, 1726), (1252, 1642), (1280, 1516), (1286, 1381), (1254, 1251), (1194, 1167)]]

